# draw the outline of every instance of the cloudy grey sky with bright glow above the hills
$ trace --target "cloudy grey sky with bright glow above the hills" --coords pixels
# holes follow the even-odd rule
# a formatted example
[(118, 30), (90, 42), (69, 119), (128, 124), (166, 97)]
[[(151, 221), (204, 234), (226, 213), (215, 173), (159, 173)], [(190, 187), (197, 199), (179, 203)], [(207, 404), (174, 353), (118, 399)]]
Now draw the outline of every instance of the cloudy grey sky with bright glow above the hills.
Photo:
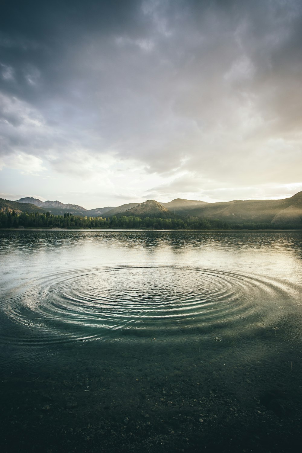
[(301, 0), (2, 0), (1, 198), (301, 190)]

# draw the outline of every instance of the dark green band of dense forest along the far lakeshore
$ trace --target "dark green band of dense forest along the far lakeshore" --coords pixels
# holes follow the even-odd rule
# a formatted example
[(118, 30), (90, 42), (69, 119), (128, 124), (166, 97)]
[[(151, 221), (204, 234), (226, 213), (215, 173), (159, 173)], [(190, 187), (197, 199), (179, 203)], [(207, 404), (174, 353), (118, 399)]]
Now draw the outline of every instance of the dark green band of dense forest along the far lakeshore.
[[(301, 226), (300, 226), (301, 227)], [(80, 217), (65, 213), (56, 216), (49, 212), (0, 212), (0, 228), (151, 228), (151, 229), (298, 229), (299, 225), (245, 222), (228, 224), (219, 219), (198, 217), (187, 218), (151, 218), (135, 216)]]

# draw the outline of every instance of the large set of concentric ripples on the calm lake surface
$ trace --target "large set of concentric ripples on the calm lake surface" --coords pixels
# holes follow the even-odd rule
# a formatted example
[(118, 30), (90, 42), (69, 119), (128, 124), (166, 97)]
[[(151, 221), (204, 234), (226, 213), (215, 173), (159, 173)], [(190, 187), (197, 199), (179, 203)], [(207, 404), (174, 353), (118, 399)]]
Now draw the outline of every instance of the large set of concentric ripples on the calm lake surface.
[(278, 325), (276, 301), (286, 298), (286, 290), (280, 282), (251, 275), (141, 265), (53, 274), (23, 282), (6, 296), (2, 310), (19, 331), (11, 336), (6, 329), (3, 340), (83, 345), (92, 339), (222, 341), (260, 321)]

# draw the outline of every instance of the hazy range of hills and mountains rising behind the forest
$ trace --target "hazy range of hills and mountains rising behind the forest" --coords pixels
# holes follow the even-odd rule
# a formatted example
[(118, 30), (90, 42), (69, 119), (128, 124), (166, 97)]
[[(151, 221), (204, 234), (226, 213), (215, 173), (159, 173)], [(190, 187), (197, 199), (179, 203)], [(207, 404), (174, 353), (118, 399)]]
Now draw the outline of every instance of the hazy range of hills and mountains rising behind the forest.
[(160, 203), (147, 200), (141, 203), (126, 203), (118, 207), (86, 209), (76, 204), (64, 204), (58, 200), (43, 202), (37, 198), (26, 197), (16, 201), (0, 199), (1, 211), (50, 212), (63, 215), (65, 212), (81, 217), (135, 216), (140, 218), (207, 218), (218, 219), (230, 225), (246, 222), (270, 224), (302, 225), (302, 192), (281, 200), (232, 200), (229, 202), (209, 203), (201, 200), (176, 198), (171, 202)]

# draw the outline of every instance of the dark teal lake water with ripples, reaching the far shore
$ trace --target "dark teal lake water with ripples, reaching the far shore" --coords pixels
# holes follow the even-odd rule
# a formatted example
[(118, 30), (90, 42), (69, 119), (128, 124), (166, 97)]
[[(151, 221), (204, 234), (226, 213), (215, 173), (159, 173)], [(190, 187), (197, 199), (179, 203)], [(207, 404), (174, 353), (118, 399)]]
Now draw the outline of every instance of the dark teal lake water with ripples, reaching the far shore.
[(288, 452), (301, 231), (0, 231), (4, 452)]

